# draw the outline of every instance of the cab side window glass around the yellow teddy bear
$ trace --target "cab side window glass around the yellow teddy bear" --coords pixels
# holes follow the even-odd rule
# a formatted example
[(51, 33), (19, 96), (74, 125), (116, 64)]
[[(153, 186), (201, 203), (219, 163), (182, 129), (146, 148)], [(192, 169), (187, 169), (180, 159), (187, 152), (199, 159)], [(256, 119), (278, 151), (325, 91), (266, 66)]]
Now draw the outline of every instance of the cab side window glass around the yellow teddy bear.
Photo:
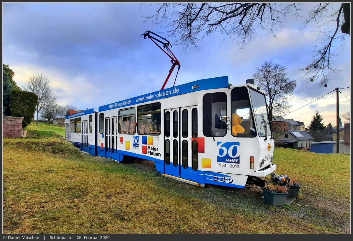
[[(249, 99), (249, 93), (247, 88), (240, 87), (234, 88), (231, 91), (231, 114), (237, 114), (242, 121), (240, 126), (244, 128), (244, 132), (237, 132), (236, 137), (255, 137), (255, 127), (252, 118), (251, 105)], [(231, 127), (232, 128), (232, 121)], [(232, 135), (234, 135), (232, 133)]]

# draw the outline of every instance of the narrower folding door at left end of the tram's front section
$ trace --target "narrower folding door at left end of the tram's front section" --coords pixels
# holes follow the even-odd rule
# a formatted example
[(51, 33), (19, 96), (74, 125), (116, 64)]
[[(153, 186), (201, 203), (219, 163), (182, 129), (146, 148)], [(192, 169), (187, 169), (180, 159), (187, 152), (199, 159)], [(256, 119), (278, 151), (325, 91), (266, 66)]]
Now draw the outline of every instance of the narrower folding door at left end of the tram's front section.
[(116, 153), (116, 116), (107, 117), (105, 119), (105, 157), (112, 159), (112, 156)]

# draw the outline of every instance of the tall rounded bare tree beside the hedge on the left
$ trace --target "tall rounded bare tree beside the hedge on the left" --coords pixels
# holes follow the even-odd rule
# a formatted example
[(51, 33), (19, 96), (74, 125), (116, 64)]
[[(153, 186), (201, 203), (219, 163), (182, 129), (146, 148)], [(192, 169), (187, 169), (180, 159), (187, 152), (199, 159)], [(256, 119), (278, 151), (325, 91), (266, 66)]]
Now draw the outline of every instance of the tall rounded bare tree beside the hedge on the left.
[(53, 90), (50, 87), (50, 81), (42, 74), (36, 74), (29, 77), (23, 85), (24, 90), (35, 93), (38, 96), (36, 104), (37, 125), (39, 112), (56, 100)]

